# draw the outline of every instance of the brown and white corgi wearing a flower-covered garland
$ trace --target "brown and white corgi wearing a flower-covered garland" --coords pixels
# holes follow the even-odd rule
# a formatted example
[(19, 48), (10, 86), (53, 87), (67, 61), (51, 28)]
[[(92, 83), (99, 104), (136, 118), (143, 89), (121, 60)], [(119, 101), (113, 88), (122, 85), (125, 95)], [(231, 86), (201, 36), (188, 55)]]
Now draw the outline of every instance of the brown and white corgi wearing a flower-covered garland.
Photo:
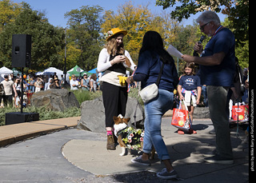
[[(122, 149), (122, 153), (120, 153), (119, 155), (120, 156), (125, 155), (127, 146), (128, 146), (127, 148), (128, 155), (131, 154), (131, 149), (133, 149), (133, 147), (139, 147), (134, 149), (137, 149), (138, 151), (140, 151), (143, 147), (144, 131), (142, 129), (133, 129), (132, 127), (129, 127), (128, 121), (130, 121), (130, 117), (124, 118), (122, 117), (121, 114), (119, 114), (118, 117), (114, 116), (113, 120), (114, 120), (114, 135), (118, 138), (118, 144)], [(135, 144), (134, 144), (134, 141), (136, 141)], [(154, 153), (155, 153), (155, 149), (153, 146), (150, 154), (150, 160), (154, 159)]]

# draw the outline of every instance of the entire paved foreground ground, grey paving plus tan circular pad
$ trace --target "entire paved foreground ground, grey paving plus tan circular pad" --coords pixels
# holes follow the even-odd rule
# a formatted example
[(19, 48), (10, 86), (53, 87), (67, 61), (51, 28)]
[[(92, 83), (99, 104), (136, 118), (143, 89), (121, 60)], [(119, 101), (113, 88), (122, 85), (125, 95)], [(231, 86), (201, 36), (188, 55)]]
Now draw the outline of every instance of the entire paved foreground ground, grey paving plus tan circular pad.
[[(202, 154), (214, 149), (210, 120), (194, 120), (198, 134), (179, 135), (162, 118), (162, 136), (181, 182), (249, 182), (248, 143), (244, 131), (231, 129), (233, 165), (214, 165)], [(63, 121), (63, 120), (62, 120)], [(0, 127), (0, 132), (1, 132)], [(106, 134), (66, 129), (0, 148), (0, 182), (172, 182), (156, 177), (164, 168), (156, 159), (150, 167), (130, 163), (134, 155), (120, 157), (121, 149), (106, 150)]]

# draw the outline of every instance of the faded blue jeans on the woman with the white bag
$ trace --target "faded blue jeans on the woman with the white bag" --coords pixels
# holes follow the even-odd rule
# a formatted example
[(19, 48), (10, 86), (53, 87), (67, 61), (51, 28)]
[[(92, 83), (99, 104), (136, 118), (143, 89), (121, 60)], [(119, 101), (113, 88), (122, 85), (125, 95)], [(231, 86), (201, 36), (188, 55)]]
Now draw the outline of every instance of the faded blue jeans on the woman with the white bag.
[(158, 97), (145, 103), (146, 118), (144, 121), (145, 134), (143, 152), (150, 153), (152, 145), (160, 160), (170, 159), (165, 142), (161, 135), (162, 115), (174, 104), (174, 93), (167, 90), (158, 90)]

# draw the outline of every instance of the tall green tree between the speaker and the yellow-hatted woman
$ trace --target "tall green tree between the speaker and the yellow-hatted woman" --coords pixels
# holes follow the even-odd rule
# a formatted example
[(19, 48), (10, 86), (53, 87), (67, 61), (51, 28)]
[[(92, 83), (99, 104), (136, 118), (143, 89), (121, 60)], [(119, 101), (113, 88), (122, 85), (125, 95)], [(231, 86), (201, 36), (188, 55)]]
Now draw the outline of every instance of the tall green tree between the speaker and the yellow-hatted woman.
[(74, 42), (81, 50), (77, 64), (84, 70), (91, 70), (97, 66), (102, 46), (102, 36), (99, 34), (102, 11), (101, 6), (82, 6), (65, 14), (69, 26), (68, 42)]

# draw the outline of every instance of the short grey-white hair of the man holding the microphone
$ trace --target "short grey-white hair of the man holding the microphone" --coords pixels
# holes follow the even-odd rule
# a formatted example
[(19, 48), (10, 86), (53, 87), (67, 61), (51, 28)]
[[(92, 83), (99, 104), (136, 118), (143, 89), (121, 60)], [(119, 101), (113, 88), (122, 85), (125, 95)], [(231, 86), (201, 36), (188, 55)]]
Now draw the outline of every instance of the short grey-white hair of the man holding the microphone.
[(218, 18), (218, 14), (214, 11), (206, 10), (200, 14), (200, 16), (196, 19), (196, 22), (208, 23), (214, 22), (216, 26), (221, 25), (221, 21)]

